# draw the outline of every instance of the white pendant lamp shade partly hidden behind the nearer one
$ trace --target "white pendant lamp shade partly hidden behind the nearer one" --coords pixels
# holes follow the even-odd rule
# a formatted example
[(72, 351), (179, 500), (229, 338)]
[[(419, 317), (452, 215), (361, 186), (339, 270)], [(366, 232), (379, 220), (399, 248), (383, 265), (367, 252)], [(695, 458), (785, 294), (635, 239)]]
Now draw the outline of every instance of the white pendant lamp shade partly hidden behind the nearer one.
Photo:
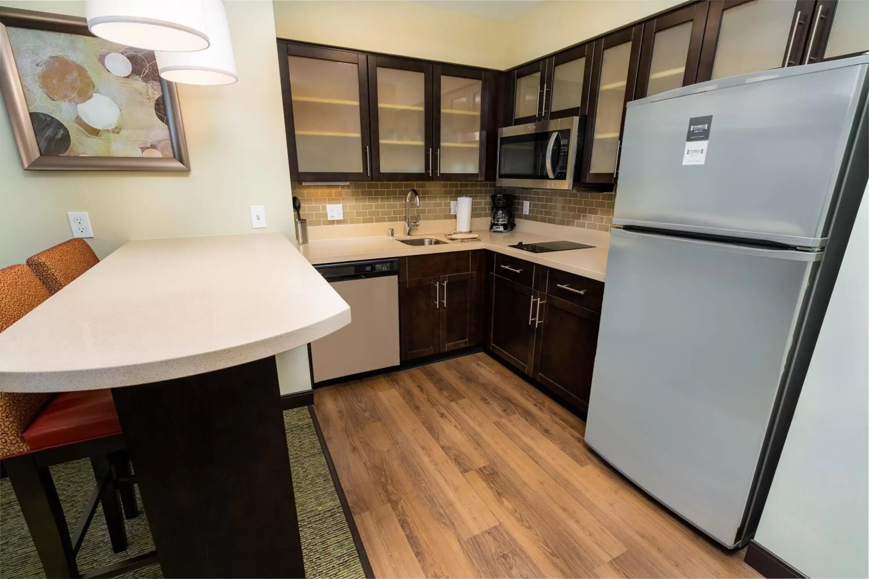
[(226, 9), (220, 0), (203, 0), (203, 5), (211, 46), (199, 52), (157, 51), (157, 68), (160, 76), (171, 82), (232, 84), (238, 81), (238, 76), (235, 75)]

